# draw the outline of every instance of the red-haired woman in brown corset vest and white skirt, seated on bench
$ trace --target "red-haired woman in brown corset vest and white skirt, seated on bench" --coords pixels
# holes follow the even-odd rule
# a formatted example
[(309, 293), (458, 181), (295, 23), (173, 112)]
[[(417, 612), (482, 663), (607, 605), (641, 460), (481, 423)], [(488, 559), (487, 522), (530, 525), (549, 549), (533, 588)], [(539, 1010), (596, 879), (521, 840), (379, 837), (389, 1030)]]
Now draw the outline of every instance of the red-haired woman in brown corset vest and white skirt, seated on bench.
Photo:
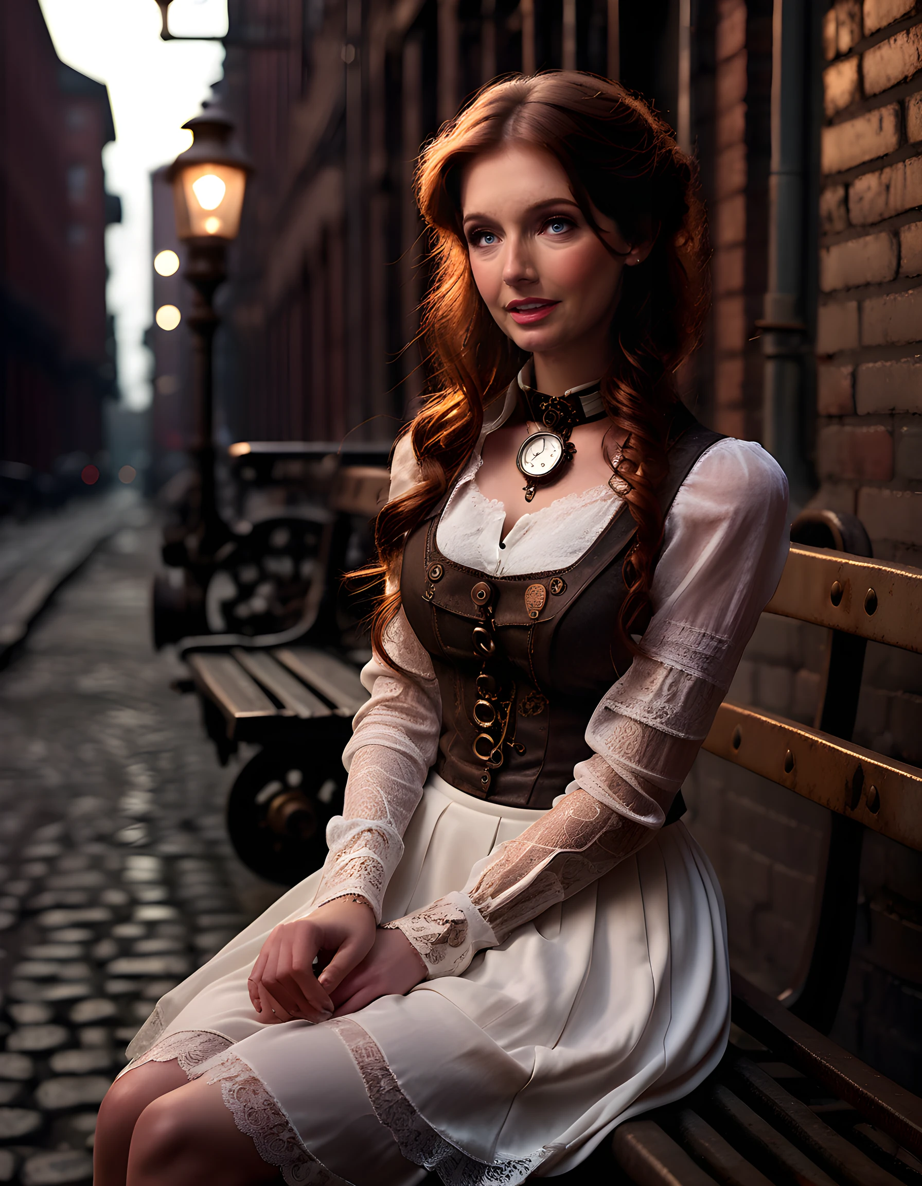
[(159, 1002), (97, 1186), (553, 1177), (726, 1042), (723, 903), (678, 790), (777, 582), (787, 489), (676, 394), (704, 311), (691, 162), (615, 83), (548, 74), (443, 129), (418, 198), (440, 393), (378, 519), (344, 814), (321, 873)]

